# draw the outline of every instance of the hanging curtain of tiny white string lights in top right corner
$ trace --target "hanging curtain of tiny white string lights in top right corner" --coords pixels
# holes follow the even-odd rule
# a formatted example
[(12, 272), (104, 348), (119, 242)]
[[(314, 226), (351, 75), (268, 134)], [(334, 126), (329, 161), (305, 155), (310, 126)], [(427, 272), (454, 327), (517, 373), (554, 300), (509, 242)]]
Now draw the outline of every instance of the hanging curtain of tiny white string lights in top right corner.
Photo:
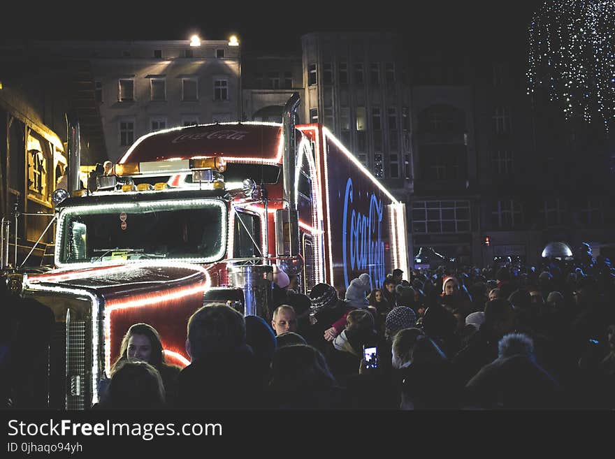
[(528, 94), (538, 88), (566, 119), (615, 122), (615, 1), (547, 0), (528, 29)]

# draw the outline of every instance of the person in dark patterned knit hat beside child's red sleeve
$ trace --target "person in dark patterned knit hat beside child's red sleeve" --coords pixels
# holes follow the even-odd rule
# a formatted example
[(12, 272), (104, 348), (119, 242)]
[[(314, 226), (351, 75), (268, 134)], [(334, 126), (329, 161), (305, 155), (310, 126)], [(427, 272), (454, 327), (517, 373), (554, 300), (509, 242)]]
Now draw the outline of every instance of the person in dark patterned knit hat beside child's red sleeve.
[(316, 284), (310, 291), (312, 325), (304, 336), (309, 344), (325, 349), (326, 342), (333, 341), (346, 326), (346, 316), (354, 309), (338, 297), (338, 291), (329, 284)]

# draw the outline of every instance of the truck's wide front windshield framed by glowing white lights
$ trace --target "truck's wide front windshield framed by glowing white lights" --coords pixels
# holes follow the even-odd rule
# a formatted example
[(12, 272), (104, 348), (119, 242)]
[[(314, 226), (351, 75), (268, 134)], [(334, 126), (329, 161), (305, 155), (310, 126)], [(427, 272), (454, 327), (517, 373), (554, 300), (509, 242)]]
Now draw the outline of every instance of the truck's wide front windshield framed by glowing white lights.
[(68, 207), (59, 263), (147, 259), (217, 261), (226, 251), (226, 206), (213, 199)]

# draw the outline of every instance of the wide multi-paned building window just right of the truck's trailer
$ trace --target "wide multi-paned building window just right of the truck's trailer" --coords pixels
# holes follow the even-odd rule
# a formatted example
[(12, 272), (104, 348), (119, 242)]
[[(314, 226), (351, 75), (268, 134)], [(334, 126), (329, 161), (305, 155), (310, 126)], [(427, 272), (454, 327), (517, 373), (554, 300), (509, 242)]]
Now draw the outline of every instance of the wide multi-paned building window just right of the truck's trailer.
[(412, 203), (414, 233), (468, 233), (470, 201), (416, 201)]

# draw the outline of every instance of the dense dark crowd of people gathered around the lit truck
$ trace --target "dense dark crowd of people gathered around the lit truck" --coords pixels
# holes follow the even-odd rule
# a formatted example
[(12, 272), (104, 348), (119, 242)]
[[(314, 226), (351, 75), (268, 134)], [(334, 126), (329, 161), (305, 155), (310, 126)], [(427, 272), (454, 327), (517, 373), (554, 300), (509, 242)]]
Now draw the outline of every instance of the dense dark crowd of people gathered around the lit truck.
[[(328, 284), (299, 293), (296, 277), (275, 270), (270, 322), (223, 304), (202, 307), (188, 323), (191, 363), (181, 371), (164, 366), (155, 330), (137, 324), (99, 406), (615, 407), (608, 258), (595, 259), (587, 248), (575, 261), (544, 259), (540, 267), (404, 274), (393, 270), (382, 288), (361, 274), (340, 298)], [(150, 351), (139, 356), (131, 345), (147, 340)]]

